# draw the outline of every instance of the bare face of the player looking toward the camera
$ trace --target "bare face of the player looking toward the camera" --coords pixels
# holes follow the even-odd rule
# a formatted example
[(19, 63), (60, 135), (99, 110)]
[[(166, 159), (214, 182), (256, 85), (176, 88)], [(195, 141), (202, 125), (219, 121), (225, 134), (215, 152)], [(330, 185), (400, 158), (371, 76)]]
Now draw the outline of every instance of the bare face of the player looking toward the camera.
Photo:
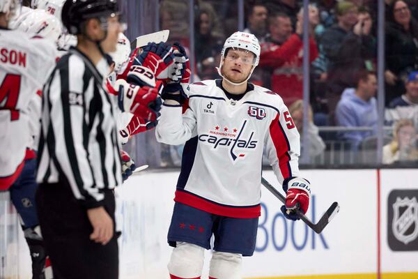
[(240, 83), (247, 80), (254, 66), (255, 56), (246, 50), (229, 50), (222, 66), (222, 75), (231, 82)]

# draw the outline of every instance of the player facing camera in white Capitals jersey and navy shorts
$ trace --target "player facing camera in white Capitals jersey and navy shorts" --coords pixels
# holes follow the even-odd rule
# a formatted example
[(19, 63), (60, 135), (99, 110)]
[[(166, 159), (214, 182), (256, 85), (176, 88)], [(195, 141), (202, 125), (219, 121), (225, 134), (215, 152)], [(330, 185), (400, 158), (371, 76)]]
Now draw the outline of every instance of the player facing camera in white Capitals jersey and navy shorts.
[(307, 212), (309, 182), (300, 177), (300, 137), (291, 115), (277, 93), (247, 82), (259, 56), (256, 37), (235, 32), (222, 49), (222, 80), (189, 84), (184, 114), (185, 86), (163, 91), (157, 140), (186, 142), (168, 234), (173, 279), (200, 278), (212, 234), (210, 278), (241, 278), (242, 256), (253, 255), (256, 244), (263, 148), (287, 193), (284, 216), (296, 220), (294, 209)]

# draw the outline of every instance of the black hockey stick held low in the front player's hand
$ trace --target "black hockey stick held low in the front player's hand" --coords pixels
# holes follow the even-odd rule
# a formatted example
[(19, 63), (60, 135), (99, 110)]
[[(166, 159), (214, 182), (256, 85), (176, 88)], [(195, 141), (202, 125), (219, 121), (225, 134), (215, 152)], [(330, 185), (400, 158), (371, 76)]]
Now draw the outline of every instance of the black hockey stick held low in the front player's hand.
[[(261, 184), (263, 184), (263, 186), (265, 186), (267, 190), (269, 190), (274, 196), (276, 196), (280, 200), (280, 202), (285, 203), (285, 197), (281, 195), (281, 193), (276, 188), (274, 188), (274, 186), (268, 183), (268, 181), (265, 180), (263, 177), (261, 177)], [(327, 211), (324, 213), (324, 215), (319, 219), (318, 223), (316, 224), (312, 223), (311, 220), (309, 220), (309, 218), (307, 218), (307, 216), (305, 216), (304, 213), (302, 213), (302, 211), (300, 211), (299, 209), (296, 209), (295, 213), (297, 217), (301, 218), (302, 221), (304, 221), (304, 223), (306, 223), (311, 229), (314, 230), (314, 232), (316, 232), (317, 234), (320, 234), (320, 232), (322, 232), (323, 229), (327, 227), (328, 223), (331, 222), (332, 218), (334, 218), (334, 216), (336, 215), (336, 213), (338, 213), (338, 211), (339, 211), (338, 202), (333, 202), (330, 208), (327, 209)]]

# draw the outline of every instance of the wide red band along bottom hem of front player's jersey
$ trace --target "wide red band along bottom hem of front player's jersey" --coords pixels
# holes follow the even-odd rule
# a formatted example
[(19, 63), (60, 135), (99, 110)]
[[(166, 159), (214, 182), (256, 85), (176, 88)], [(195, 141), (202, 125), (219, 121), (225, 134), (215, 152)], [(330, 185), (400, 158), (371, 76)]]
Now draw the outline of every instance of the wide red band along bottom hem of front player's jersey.
[(199, 197), (197, 195), (192, 195), (187, 192), (176, 190), (176, 197), (174, 197), (175, 202), (180, 202), (181, 204), (186, 204), (192, 206), (195, 209), (200, 209), (202, 211), (216, 214), (219, 216), (233, 217), (233, 218), (257, 218), (261, 216), (261, 206), (257, 204), (255, 206), (226, 206), (221, 204), (216, 204), (211, 202), (208, 199)]

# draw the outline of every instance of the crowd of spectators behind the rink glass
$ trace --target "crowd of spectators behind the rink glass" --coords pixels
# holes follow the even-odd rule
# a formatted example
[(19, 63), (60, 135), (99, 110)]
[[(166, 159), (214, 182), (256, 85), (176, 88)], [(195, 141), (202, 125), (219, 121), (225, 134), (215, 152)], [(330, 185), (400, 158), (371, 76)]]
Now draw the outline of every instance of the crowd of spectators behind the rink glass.
[[(189, 22), (185, 20), (188, 18), (188, 3), (187, 0), (160, 1), (160, 27), (171, 31), (171, 41), (190, 46)], [(236, 3), (194, 1), (195, 81), (219, 78), (215, 67), (219, 66), (222, 44), (238, 29)], [(322, 156), (323, 163), (326, 163), (326, 151), (332, 149), (336, 153), (343, 149), (355, 158), (346, 158), (340, 163), (373, 163), (366, 151), (374, 151), (372, 157), (376, 158), (377, 1), (313, 0), (309, 3), (311, 114), (307, 133), (311, 162), (315, 163), (316, 158)], [(261, 43), (260, 63), (250, 81), (278, 93), (293, 118), (301, 120), (304, 78), (302, 12), (302, 1), (297, 0), (245, 1), (245, 31), (254, 33)], [(387, 129), (384, 143), (387, 145), (383, 151), (384, 163), (418, 159), (417, 20), (417, 0), (385, 0)], [(408, 136), (399, 135), (402, 130), (399, 127), (403, 127), (402, 123), (407, 119), (412, 121)], [(318, 126), (338, 126), (341, 131), (320, 132)], [(298, 129), (303, 132), (302, 125)], [(408, 140), (403, 137), (408, 137)], [(401, 149), (413, 152), (402, 156)]]

